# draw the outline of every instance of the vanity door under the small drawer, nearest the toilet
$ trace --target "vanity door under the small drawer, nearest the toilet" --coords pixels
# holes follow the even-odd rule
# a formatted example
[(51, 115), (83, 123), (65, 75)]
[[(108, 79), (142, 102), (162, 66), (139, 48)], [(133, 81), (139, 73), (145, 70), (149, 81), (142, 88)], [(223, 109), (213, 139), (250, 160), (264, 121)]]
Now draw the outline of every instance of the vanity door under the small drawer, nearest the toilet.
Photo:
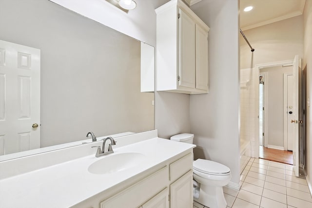
[(193, 170), (170, 185), (170, 208), (193, 207)]

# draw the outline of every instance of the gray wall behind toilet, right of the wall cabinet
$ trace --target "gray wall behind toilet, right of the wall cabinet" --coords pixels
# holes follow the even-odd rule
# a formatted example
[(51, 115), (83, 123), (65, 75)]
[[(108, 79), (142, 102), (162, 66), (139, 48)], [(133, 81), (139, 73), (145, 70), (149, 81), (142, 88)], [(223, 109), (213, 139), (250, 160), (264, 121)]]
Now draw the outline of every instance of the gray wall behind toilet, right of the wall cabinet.
[(209, 31), (209, 94), (191, 95), (195, 157), (228, 166), (239, 183), (238, 1), (203, 0), (191, 7)]

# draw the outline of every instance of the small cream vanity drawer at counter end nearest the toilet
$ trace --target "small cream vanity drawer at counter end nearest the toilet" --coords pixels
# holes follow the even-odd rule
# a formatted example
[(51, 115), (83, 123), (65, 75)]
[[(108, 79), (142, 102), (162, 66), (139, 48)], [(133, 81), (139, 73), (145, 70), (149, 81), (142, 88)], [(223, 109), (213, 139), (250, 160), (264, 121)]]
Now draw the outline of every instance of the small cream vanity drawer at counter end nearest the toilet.
[(170, 164), (170, 181), (173, 182), (187, 171), (193, 170), (193, 154), (189, 153)]

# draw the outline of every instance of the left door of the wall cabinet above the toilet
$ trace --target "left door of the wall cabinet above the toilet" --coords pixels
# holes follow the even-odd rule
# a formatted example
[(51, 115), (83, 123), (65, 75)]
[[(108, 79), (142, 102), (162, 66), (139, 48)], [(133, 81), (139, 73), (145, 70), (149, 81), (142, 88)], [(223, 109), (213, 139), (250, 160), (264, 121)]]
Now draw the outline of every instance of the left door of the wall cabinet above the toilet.
[(195, 88), (195, 22), (179, 9), (179, 86)]

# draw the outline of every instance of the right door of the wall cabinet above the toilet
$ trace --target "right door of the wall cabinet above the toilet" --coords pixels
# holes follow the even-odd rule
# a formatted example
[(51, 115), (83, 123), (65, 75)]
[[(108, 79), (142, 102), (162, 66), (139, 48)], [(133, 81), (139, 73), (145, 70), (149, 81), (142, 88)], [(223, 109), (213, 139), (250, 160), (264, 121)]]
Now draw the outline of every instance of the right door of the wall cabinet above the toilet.
[(196, 24), (196, 89), (208, 90), (208, 32)]

